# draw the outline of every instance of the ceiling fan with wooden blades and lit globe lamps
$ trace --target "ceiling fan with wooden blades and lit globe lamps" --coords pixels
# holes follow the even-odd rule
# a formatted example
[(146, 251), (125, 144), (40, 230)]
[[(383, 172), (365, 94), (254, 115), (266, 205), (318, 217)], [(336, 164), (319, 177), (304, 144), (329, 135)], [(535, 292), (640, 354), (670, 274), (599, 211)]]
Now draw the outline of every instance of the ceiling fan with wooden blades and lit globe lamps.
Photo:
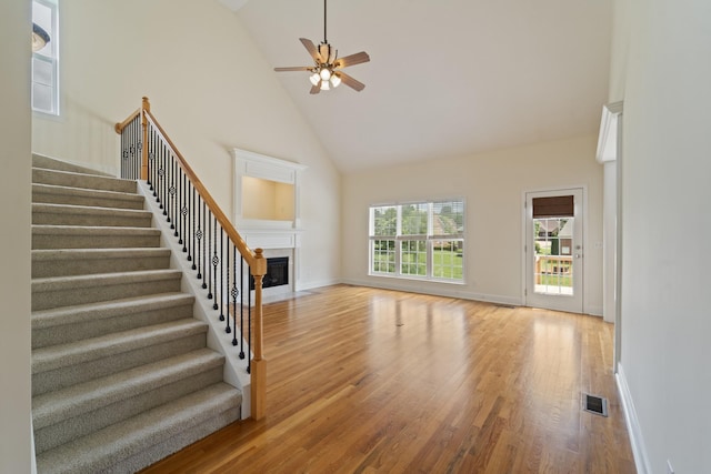
[(329, 44), (326, 37), (326, 1), (327, 0), (323, 0), (323, 41), (321, 44), (317, 48), (311, 40), (307, 38), (299, 38), (307, 51), (309, 51), (309, 54), (311, 54), (311, 58), (313, 58), (314, 65), (274, 68), (274, 71), (311, 72), (309, 80), (312, 84), (312, 94), (318, 94), (321, 91), (328, 91), (331, 88), (337, 88), (341, 82), (360, 92), (365, 88), (365, 84), (348, 75), (341, 69), (368, 62), (370, 61), (370, 57), (365, 51), (361, 51), (344, 58), (338, 58), (338, 51)]

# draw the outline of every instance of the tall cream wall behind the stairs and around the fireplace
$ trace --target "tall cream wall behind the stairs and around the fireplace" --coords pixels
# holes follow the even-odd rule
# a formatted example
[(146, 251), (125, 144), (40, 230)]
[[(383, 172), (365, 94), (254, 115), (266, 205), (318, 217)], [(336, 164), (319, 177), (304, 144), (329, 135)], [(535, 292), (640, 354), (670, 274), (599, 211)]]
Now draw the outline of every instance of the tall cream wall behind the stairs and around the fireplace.
[(213, 0), (72, 0), (60, 8), (62, 117), (34, 117), (33, 151), (116, 173), (113, 123), (148, 95), (227, 215), (232, 148), (309, 167), (303, 286), (338, 279), (339, 173), (239, 17)]

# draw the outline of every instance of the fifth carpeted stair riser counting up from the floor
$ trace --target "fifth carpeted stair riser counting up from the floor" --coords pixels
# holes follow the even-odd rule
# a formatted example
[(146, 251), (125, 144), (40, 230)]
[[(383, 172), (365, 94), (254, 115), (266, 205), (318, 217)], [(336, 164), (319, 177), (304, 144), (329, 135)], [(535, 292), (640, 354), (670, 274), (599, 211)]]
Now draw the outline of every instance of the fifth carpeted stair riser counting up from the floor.
[(51, 288), (32, 283), (32, 311), (180, 291), (180, 275), (161, 280), (97, 280), (97, 284), (88, 283), (82, 282), (82, 286), (78, 286), (70, 281)]

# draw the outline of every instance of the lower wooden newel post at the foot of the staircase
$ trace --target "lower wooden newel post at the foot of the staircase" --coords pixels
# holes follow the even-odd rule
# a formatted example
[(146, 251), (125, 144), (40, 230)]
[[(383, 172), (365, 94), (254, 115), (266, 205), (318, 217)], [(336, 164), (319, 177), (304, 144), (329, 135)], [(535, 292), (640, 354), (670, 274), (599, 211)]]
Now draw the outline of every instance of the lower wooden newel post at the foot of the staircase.
[(251, 416), (261, 420), (267, 412), (267, 361), (263, 357), (262, 280), (267, 274), (267, 259), (262, 249), (254, 250), (254, 356), (251, 363)]

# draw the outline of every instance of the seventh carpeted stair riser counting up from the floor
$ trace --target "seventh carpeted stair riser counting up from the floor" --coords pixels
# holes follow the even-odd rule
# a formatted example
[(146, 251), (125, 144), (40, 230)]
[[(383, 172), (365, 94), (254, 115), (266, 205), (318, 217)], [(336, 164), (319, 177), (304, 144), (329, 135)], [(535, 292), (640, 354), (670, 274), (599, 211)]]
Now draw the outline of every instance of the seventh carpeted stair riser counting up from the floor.
[(32, 249), (136, 249), (158, 248), (160, 235), (131, 235), (131, 234), (32, 234)]

